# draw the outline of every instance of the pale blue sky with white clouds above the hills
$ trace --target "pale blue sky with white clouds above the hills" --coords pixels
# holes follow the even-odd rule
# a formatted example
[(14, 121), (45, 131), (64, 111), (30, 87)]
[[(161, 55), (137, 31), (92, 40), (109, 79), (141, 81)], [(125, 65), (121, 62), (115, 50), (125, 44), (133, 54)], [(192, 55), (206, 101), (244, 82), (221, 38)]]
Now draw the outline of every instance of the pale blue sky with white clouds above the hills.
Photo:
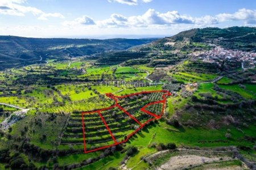
[(157, 37), (256, 26), (255, 0), (0, 0), (0, 35)]

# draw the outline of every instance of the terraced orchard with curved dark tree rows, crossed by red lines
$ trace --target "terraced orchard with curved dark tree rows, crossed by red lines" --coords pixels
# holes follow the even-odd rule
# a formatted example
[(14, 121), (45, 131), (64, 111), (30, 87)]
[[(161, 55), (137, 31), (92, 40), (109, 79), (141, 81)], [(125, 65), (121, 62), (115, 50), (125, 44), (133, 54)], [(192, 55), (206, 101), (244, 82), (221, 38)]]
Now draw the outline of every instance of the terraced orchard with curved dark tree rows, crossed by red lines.
[[(106, 94), (115, 104), (96, 111), (71, 114), (61, 145), (89, 153), (127, 140), (164, 112), (168, 91), (146, 91), (125, 96)], [(82, 121), (82, 126), (81, 126)]]

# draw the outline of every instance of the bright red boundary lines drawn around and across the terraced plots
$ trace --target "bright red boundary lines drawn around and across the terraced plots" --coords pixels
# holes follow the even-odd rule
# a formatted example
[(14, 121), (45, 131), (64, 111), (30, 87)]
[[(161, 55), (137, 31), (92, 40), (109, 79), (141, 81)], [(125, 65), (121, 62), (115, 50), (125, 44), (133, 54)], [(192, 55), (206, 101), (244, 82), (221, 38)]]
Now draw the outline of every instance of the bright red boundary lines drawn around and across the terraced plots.
[[(125, 111), (125, 109), (123, 109), (119, 104), (118, 104), (118, 101), (117, 99), (123, 99), (125, 97), (129, 97), (129, 96), (134, 96), (134, 95), (139, 95), (139, 94), (149, 94), (149, 93), (153, 93), (153, 92), (164, 92), (162, 98), (163, 100), (160, 100), (160, 101), (154, 101), (154, 102), (151, 102), (151, 103), (148, 103), (147, 105), (145, 105), (143, 108), (141, 108), (141, 111), (142, 112), (145, 112), (147, 114), (150, 114), (151, 116), (154, 116), (155, 118), (151, 118), (150, 120), (147, 120), (146, 122), (144, 122), (144, 124), (141, 124), (141, 122), (139, 122), (136, 118), (134, 118), (133, 116), (131, 116), (130, 113), (128, 113), (127, 111)], [(113, 104), (112, 106), (108, 107), (108, 108), (103, 108), (103, 109), (98, 109), (96, 111), (89, 111), (89, 112), (82, 112), (82, 133), (84, 134), (84, 152), (85, 154), (89, 153), (89, 152), (94, 152), (94, 151), (97, 151), (97, 150), (102, 150), (104, 148), (108, 148), (108, 147), (112, 147), (112, 146), (115, 146), (115, 145), (119, 145), (120, 143), (125, 143), (129, 140), (129, 138), (134, 135), (135, 133), (137, 133), (139, 130), (141, 130), (148, 122), (150, 121), (153, 121), (153, 120), (158, 120), (160, 117), (163, 116), (163, 112), (164, 112), (164, 107), (166, 105), (166, 97), (165, 96), (171, 96), (171, 93), (169, 91), (165, 91), (165, 90), (159, 90), (159, 91), (142, 91), (142, 92), (137, 92), (137, 93), (134, 93), (134, 94), (130, 94), (130, 95), (124, 95), (124, 96), (114, 96), (113, 94), (106, 94), (106, 96), (108, 96), (109, 98), (115, 100), (115, 104)], [(163, 108), (162, 108), (162, 112), (159, 116), (157, 116), (156, 114), (154, 113), (151, 113), (149, 111), (146, 111), (146, 107), (148, 107), (148, 105), (152, 105), (152, 104), (157, 104), (157, 103), (163, 103)], [(106, 111), (106, 110), (109, 110), (109, 109), (112, 109), (114, 107), (118, 107), (119, 109), (121, 109), (124, 113), (126, 113), (129, 117), (131, 117), (134, 121), (136, 121), (139, 125), (141, 125), (138, 129), (136, 129), (135, 131), (133, 131), (133, 133), (127, 135), (127, 138), (121, 142), (117, 142), (115, 141), (115, 138), (111, 132), (111, 130), (109, 129), (108, 125), (106, 124), (106, 121), (104, 120), (104, 117), (102, 117), (102, 114), (100, 113), (101, 111)], [(86, 151), (86, 143), (85, 143), (85, 126), (84, 126), (84, 114), (92, 114), (92, 113), (98, 113), (101, 117), (101, 120), (104, 122), (106, 128), (108, 129), (110, 135), (112, 136), (113, 138), (113, 141), (115, 142), (114, 144), (112, 145), (107, 145), (107, 146), (103, 146), (103, 147), (98, 147), (98, 148), (95, 148), (93, 150), (89, 150), (89, 151)]]

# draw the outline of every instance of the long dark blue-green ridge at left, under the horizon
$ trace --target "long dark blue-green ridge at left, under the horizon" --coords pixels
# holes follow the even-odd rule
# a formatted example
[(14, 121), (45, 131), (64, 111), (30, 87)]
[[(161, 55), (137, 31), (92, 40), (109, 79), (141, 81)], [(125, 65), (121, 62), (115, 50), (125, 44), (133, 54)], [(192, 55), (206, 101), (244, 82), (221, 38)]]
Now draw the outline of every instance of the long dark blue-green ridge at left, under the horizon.
[(125, 50), (153, 40), (156, 39), (35, 39), (0, 36), (0, 70), (44, 62), (46, 59), (67, 59)]

